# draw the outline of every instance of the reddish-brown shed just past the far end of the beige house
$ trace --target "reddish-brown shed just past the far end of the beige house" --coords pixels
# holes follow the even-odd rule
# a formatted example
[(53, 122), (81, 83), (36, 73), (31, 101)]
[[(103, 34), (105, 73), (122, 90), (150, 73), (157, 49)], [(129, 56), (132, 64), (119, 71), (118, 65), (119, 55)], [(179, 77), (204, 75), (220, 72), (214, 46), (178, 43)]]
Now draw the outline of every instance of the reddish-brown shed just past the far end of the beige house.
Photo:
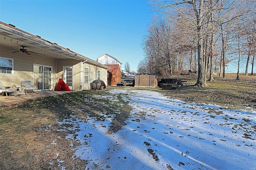
[(106, 64), (110, 67), (108, 69), (108, 85), (116, 85), (116, 83), (122, 81), (122, 73), (119, 64)]

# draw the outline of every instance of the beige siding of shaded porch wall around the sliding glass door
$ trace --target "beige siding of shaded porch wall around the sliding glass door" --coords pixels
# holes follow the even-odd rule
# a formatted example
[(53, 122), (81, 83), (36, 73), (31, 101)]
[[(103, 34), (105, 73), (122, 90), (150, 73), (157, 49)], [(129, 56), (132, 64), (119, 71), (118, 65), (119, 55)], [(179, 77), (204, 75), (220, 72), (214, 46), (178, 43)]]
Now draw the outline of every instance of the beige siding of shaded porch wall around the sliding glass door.
[(6, 49), (1, 47), (0, 57), (10, 58), (14, 60), (14, 74), (2, 75), (0, 74), (0, 81), (4, 85), (20, 85), (21, 80), (30, 80), (33, 82), (33, 64), (52, 66), (53, 84), (56, 79), (56, 59), (50, 57), (40, 56), (38, 54), (31, 53), (27, 55), (18, 51), (12, 53), (13, 49)]

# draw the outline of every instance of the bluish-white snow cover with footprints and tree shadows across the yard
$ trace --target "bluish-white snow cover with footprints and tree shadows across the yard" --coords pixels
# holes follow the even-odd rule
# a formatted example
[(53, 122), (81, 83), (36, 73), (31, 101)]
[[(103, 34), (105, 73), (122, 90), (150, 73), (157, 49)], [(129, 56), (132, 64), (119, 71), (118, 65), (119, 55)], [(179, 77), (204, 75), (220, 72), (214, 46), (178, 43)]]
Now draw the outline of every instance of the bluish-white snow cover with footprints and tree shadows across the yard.
[(66, 139), (80, 143), (73, 157), (87, 160), (85, 169), (256, 169), (256, 111), (184, 103), (155, 91), (111, 93), (124, 94), (133, 108), (118, 132), (108, 133), (112, 117), (59, 122), (60, 131), (75, 130)]

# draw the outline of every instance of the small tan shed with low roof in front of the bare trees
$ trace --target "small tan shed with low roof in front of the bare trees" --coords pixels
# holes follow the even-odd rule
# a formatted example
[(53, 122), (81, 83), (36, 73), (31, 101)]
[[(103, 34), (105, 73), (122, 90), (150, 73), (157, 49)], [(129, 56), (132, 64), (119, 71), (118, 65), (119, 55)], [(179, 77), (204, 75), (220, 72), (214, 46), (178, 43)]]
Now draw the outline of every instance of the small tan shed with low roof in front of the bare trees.
[(157, 87), (158, 80), (156, 75), (150, 73), (141, 73), (135, 75), (134, 87)]

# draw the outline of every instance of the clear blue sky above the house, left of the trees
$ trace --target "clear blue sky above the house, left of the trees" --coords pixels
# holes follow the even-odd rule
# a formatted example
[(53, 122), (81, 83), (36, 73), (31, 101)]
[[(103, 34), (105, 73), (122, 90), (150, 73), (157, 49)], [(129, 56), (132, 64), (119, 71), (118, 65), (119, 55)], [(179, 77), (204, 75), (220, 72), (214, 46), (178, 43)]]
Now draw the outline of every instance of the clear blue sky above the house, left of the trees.
[(147, 0), (0, 0), (0, 21), (96, 60), (136, 71), (153, 13)]

